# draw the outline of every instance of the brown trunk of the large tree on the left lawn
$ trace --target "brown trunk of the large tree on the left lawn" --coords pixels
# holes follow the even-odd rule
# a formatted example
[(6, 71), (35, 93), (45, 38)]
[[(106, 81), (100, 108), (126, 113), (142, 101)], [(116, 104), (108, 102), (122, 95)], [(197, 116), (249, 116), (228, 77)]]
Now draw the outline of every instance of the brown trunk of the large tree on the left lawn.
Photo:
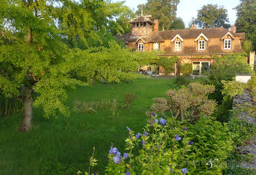
[(32, 126), (32, 105), (33, 105), (33, 97), (32, 97), (32, 88), (25, 87), (25, 97), (23, 99), (24, 104), (24, 115), (22, 121), (20, 123), (20, 127), (18, 128), (19, 132), (28, 132)]

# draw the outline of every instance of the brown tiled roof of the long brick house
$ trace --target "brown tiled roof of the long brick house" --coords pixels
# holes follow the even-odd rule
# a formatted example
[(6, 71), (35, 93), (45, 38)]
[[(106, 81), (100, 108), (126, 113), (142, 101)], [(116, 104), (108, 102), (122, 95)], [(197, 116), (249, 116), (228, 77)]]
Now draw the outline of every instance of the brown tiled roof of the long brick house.
[[(208, 39), (213, 37), (222, 38), (228, 32), (230, 32), (226, 28), (201, 28), (201, 29), (185, 29), (185, 30), (166, 30), (166, 31), (158, 31), (158, 32), (150, 32), (148, 36), (141, 36), (146, 43), (152, 42), (162, 42), (167, 39), (173, 39), (177, 34), (180, 37), (185, 39), (196, 39), (201, 33), (203, 33)], [(240, 37), (244, 39), (244, 33), (234, 33), (230, 32), (233, 37)], [(131, 37), (131, 34), (123, 34), (123, 36), (119, 36), (125, 43), (137, 41), (139, 37)], [(230, 50), (224, 50), (221, 45), (207, 45), (207, 49), (203, 51), (199, 51), (195, 46), (183, 46), (181, 51), (174, 51), (172, 47), (163, 48), (165, 51), (165, 55), (204, 55), (204, 54), (225, 54), (230, 53)], [(240, 45), (234, 45), (232, 49), (234, 53), (242, 53), (243, 50), (240, 48)]]

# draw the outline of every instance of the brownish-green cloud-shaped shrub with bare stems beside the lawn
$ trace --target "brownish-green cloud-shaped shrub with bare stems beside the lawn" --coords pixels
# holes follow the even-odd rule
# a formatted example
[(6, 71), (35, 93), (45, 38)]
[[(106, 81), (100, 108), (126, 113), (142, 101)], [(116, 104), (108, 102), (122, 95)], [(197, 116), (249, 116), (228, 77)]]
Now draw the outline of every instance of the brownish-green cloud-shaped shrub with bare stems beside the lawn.
[(199, 83), (191, 83), (187, 87), (181, 89), (169, 89), (166, 95), (169, 97), (167, 101), (164, 98), (154, 99), (152, 109), (154, 112), (169, 111), (172, 117), (180, 116), (181, 120), (187, 117), (189, 120), (196, 120), (200, 114), (209, 116), (214, 111), (216, 103), (214, 100), (208, 100), (209, 93), (214, 91), (214, 86), (203, 85)]

